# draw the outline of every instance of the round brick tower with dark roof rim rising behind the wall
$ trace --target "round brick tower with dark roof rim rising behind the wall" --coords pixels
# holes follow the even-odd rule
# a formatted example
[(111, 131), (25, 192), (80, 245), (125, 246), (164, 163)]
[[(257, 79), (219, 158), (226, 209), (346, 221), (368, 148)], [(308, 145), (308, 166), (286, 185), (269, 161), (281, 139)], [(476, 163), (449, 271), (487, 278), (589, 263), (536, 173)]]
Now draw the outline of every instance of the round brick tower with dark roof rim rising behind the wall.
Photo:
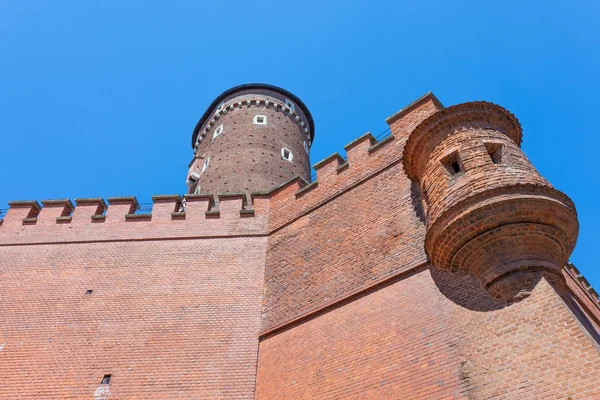
[(314, 123), (304, 103), (265, 84), (218, 96), (194, 129), (189, 193), (269, 191), (295, 176), (310, 181)]

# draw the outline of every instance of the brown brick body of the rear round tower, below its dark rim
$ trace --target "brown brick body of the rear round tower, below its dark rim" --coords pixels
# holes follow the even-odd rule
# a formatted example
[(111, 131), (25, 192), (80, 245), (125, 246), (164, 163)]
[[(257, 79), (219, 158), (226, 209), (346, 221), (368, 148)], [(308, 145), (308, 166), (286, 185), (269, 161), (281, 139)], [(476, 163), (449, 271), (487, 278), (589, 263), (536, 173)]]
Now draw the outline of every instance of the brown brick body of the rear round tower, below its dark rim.
[[(232, 103), (257, 100), (262, 104), (228, 108)], [(276, 98), (275, 93), (240, 93), (225, 102), (229, 111), (215, 122), (196, 149), (189, 174), (196, 172), (200, 179), (190, 192), (198, 187), (202, 193), (214, 194), (266, 192), (295, 176), (310, 181), (309, 154), (304, 148), (310, 140), (304, 128), (288, 112), (267, 106), (265, 101), (282, 104), (285, 100)], [(266, 116), (266, 125), (254, 124), (255, 115)], [(214, 130), (221, 125), (223, 132), (213, 138)], [(291, 162), (282, 157), (282, 148), (291, 150)], [(202, 172), (206, 158), (210, 158), (209, 165)]]

